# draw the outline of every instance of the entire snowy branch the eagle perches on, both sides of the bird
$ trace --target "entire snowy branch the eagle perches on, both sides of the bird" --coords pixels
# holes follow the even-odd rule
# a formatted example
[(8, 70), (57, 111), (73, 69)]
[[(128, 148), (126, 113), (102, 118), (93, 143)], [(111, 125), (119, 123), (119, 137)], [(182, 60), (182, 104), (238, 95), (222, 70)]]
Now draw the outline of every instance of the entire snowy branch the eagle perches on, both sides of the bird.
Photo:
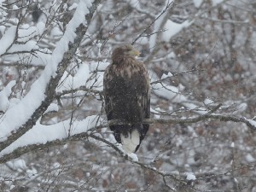
[[(205, 113), (203, 115), (200, 115), (198, 117), (194, 118), (186, 118), (186, 119), (144, 119), (143, 123), (147, 124), (191, 124), (191, 123), (197, 123), (204, 120), (210, 120), (210, 119), (218, 119), (220, 121), (230, 121), (230, 122), (236, 122), (236, 123), (243, 123), (246, 124), (250, 129), (253, 131), (256, 131), (256, 122), (253, 119), (246, 119), (243, 117), (236, 117), (236, 116), (229, 116), (229, 115), (222, 115), (222, 114), (215, 114), (214, 112), (218, 110), (218, 108), (221, 107), (221, 104), (218, 104), (218, 106), (212, 108), (208, 113)], [(108, 146), (116, 150), (119, 154), (124, 156), (124, 152), (116, 146), (116, 144), (111, 143), (107, 141), (106, 139), (102, 137), (96, 137), (93, 132), (105, 127), (108, 127), (110, 125), (124, 125), (128, 124), (127, 122), (120, 121), (120, 120), (110, 120), (108, 122), (102, 121), (102, 119), (98, 119), (96, 116), (90, 116), (82, 121), (76, 121), (73, 124), (72, 128), (72, 134), (68, 136), (67, 130), (63, 129), (63, 127), (69, 126), (69, 120), (63, 121), (56, 125), (40, 125), (37, 124), (34, 129), (27, 132), (24, 136), (20, 137), (19, 140), (17, 140), (15, 143), (12, 143), (8, 148), (4, 149), (0, 153), (0, 164), (3, 162), (6, 162), (8, 160), (14, 159), (19, 157), (22, 154), (26, 154), (27, 152), (31, 150), (36, 150), (38, 148), (49, 148), (51, 146), (55, 145), (62, 145), (70, 141), (79, 141), (81, 139), (84, 139), (86, 137), (92, 137), (98, 141), (101, 141), (103, 143), (107, 143)], [(58, 132), (58, 134), (54, 134), (54, 132)], [(37, 141), (30, 141), (28, 138), (35, 137), (36, 134), (40, 134), (41, 137)], [(49, 135), (53, 135), (49, 139)], [(58, 135), (59, 137), (55, 137)], [(37, 137), (38, 138), (38, 137)], [(126, 157), (127, 160), (131, 160), (132, 162), (135, 162), (136, 160), (132, 160), (130, 157)], [(137, 162), (137, 161), (136, 161)], [(140, 164), (140, 163), (137, 163)], [(164, 177), (164, 175), (163, 175)]]

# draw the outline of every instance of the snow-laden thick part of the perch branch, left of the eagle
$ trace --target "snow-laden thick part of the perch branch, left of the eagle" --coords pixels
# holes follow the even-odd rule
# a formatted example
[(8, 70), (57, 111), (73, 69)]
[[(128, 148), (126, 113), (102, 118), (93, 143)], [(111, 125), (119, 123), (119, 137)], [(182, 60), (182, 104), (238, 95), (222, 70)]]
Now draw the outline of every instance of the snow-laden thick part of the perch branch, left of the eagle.
[(70, 119), (55, 125), (41, 125), (37, 122), (30, 131), (0, 152), (0, 164), (38, 148), (49, 148), (63, 145), (68, 141), (81, 140), (88, 137), (90, 129), (99, 125), (101, 121), (102, 119), (92, 115), (81, 121), (74, 121), (71, 127)]

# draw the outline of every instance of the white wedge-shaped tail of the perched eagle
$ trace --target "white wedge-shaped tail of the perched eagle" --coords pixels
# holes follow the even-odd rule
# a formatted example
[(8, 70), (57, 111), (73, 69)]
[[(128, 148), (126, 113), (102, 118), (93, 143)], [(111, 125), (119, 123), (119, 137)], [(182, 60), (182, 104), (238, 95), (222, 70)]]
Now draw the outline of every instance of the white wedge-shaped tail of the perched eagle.
[(140, 143), (140, 133), (137, 129), (134, 129), (131, 133), (128, 132), (127, 136), (121, 133), (121, 141), (126, 154), (134, 153), (137, 145)]

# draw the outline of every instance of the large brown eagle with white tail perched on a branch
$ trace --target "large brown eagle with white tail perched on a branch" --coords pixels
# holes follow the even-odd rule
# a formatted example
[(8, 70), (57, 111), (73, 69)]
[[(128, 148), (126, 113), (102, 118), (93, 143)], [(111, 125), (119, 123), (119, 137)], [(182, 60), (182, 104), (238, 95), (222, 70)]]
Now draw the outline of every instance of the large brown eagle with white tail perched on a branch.
[(107, 119), (128, 122), (110, 125), (113, 136), (126, 154), (136, 153), (147, 134), (150, 116), (150, 80), (140, 55), (131, 44), (113, 49), (112, 62), (103, 76), (103, 96)]

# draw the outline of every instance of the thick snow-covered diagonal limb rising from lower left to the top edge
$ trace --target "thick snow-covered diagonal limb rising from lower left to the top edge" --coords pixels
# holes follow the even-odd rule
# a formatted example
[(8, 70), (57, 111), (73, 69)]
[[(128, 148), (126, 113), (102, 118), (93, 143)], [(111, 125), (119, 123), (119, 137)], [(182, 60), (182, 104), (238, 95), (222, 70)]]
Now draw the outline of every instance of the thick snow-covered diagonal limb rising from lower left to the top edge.
[[(90, 23), (97, 4), (98, 0), (92, 4), (89, 1), (80, 1), (42, 75), (32, 84), (31, 90), (20, 103), (4, 114), (0, 123), (0, 151), (32, 129), (55, 99), (55, 88), (84, 38), (87, 24)], [(30, 105), (28, 106), (27, 103)]]

